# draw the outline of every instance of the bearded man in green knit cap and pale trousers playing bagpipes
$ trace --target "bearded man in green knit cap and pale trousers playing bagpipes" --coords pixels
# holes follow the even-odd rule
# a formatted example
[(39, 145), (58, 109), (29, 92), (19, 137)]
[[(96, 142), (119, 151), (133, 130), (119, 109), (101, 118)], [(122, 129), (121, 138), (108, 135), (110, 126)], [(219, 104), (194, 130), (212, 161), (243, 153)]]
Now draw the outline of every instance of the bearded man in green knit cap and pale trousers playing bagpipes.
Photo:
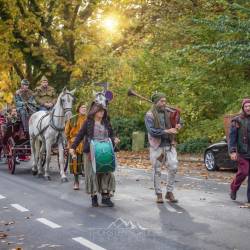
[(180, 121), (172, 127), (170, 111), (166, 109), (164, 93), (154, 93), (151, 97), (153, 106), (146, 113), (145, 125), (150, 144), (150, 161), (153, 167), (156, 202), (163, 203), (161, 189), (161, 166), (168, 163), (167, 192), (165, 198), (170, 202), (178, 202), (174, 197), (174, 182), (178, 168), (175, 135), (181, 128)]

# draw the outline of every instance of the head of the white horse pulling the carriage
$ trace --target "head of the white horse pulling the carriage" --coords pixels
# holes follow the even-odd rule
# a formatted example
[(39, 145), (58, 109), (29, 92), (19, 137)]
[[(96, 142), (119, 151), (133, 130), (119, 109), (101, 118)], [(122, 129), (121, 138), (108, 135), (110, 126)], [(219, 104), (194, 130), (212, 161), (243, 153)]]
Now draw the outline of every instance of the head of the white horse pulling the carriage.
[(72, 107), (75, 99), (75, 91), (75, 89), (69, 91), (64, 87), (62, 93), (59, 95), (60, 105), (63, 108), (65, 119), (67, 121), (72, 117)]

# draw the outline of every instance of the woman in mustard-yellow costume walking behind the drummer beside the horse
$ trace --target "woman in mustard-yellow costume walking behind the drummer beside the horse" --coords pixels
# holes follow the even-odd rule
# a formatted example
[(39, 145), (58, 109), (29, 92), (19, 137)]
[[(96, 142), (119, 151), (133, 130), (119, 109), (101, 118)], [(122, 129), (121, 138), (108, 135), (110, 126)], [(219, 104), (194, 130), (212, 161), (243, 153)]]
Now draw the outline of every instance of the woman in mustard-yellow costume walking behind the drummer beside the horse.
[[(76, 107), (77, 114), (71, 118), (65, 126), (65, 135), (68, 141), (68, 148), (71, 148), (76, 135), (86, 120), (86, 105), (80, 102)], [(70, 173), (74, 174), (74, 190), (79, 190), (79, 175), (84, 174), (83, 165), (83, 142), (80, 142), (76, 150), (76, 159), (69, 155)]]

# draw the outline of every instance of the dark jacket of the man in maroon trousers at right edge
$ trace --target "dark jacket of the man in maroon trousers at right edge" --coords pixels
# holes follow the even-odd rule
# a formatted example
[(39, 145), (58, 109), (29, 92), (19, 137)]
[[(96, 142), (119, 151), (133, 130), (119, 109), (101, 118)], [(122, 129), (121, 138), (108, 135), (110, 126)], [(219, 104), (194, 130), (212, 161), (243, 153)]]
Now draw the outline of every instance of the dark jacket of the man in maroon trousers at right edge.
[(242, 113), (231, 121), (229, 132), (229, 153), (237, 152), (250, 159), (250, 117)]

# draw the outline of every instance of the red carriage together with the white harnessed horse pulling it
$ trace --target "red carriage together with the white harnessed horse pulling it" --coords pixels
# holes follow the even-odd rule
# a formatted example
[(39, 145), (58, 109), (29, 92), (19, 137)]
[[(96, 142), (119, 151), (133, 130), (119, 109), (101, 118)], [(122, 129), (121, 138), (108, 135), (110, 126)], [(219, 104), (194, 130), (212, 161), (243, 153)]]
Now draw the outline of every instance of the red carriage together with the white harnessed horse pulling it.
[[(66, 93), (66, 94), (64, 94)], [(63, 92), (64, 95), (69, 95), (69, 92)], [(32, 122), (29, 123), (31, 127), (31, 131), (37, 130), (37, 128), (42, 125), (43, 122), (47, 120), (48, 124), (45, 127), (41, 127), (38, 131), (35, 131), (37, 134), (30, 136), (30, 133), (24, 131), (24, 127), (22, 124), (21, 119), (19, 119), (18, 114), (16, 113), (14, 116), (12, 114), (2, 115), (0, 118), (0, 153), (5, 163), (8, 165), (8, 169), (11, 174), (15, 173), (16, 165), (20, 164), (20, 161), (29, 161), (32, 160), (32, 172), (35, 175), (36, 172), (33, 171), (34, 167), (37, 169), (39, 168), (40, 172), (42, 173), (42, 168), (44, 167), (45, 163), (48, 165), (50, 163), (51, 155), (57, 155), (57, 162), (60, 168), (61, 175), (65, 177), (65, 171), (67, 170), (67, 163), (68, 163), (68, 150), (66, 148), (66, 143), (64, 141), (64, 113), (71, 112), (72, 108), (72, 100), (70, 100), (70, 107), (63, 109), (65, 104), (62, 104), (62, 94), (58, 98), (58, 104), (55, 105), (55, 109), (51, 112), (46, 111), (38, 111), (34, 112), (31, 115), (33, 116)], [(65, 101), (66, 102), (66, 101)], [(55, 114), (55, 110), (59, 109), (62, 110), (62, 115)], [(14, 109), (15, 110), (15, 109)], [(15, 111), (16, 112), (16, 111)], [(37, 118), (38, 124), (35, 125), (35, 118)], [(57, 124), (57, 120), (60, 119), (62, 124)], [(34, 126), (33, 126), (34, 125)], [(58, 125), (60, 128), (58, 129)], [(30, 130), (30, 129), (29, 129)], [(44, 133), (46, 130), (50, 131), (48, 138), (44, 137)], [(54, 141), (50, 141), (50, 139), (54, 138)], [(44, 140), (45, 139), (45, 140)], [(58, 141), (60, 140), (60, 142)], [(50, 142), (50, 148), (47, 145), (47, 142)], [(33, 145), (32, 145), (33, 142)], [(60, 148), (56, 148), (58, 144)], [(33, 148), (32, 148), (33, 146)], [(61, 152), (61, 153), (60, 153)], [(61, 157), (59, 155), (61, 154)], [(46, 159), (47, 158), (47, 159)], [(60, 159), (59, 159), (60, 158)], [(49, 160), (48, 160), (49, 159)]]

